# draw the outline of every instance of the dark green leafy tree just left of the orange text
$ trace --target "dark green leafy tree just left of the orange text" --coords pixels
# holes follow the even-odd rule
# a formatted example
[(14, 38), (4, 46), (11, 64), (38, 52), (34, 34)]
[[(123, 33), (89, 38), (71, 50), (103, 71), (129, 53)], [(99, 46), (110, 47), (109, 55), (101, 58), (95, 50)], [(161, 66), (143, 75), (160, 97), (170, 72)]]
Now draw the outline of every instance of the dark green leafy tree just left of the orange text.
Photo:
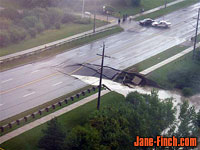
[(130, 149), (130, 124), (127, 120), (127, 116), (130, 116), (127, 112), (130, 111), (129, 108), (123, 103), (115, 104), (114, 107), (103, 108), (90, 117), (90, 125), (100, 133), (101, 145), (112, 150)]

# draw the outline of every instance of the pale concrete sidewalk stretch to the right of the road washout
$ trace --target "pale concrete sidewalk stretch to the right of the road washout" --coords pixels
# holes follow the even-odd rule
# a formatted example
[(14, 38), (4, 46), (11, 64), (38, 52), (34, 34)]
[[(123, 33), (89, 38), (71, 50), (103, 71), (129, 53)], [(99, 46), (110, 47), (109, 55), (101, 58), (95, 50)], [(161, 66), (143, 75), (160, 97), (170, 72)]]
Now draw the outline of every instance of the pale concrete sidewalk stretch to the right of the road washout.
[[(197, 43), (196, 47), (199, 47), (199, 46), (200, 46), (200, 43)], [(166, 64), (168, 64), (168, 63), (170, 63), (170, 62), (172, 62), (172, 61), (174, 61), (174, 60), (176, 60), (176, 59), (178, 59), (178, 58), (180, 58), (184, 55), (186, 55), (186, 54), (188, 54), (191, 51), (193, 51), (193, 46), (191, 46), (190, 48), (188, 48), (188, 49), (186, 49), (186, 50), (184, 50), (184, 51), (182, 51), (182, 52), (180, 52), (180, 53), (178, 53), (178, 54), (176, 54), (176, 55), (174, 55), (174, 56), (172, 56), (172, 57), (170, 57), (170, 58), (168, 58), (168, 59), (150, 67), (150, 68), (147, 68), (146, 70), (141, 71), (140, 74), (147, 75), (147, 74), (151, 73), (152, 71), (154, 71), (154, 70), (156, 70), (156, 69), (158, 69), (158, 68), (160, 68), (160, 67), (162, 67), (162, 66), (164, 66), (164, 65), (166, 65)]]

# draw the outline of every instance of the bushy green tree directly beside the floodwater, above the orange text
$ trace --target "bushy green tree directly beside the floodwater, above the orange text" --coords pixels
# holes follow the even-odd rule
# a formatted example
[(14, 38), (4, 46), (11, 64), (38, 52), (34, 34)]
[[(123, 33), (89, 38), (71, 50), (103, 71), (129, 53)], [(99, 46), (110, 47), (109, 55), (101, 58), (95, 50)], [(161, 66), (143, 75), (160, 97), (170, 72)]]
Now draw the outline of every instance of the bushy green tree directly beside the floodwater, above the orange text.
[(151, 95), (130, 93), (126, 100), (134, 109), (132, 117), (129, 118), (132, 135), (156, 137), (175, 120), (176, 109), (173, 108), (172, 99), (161, 101), (155, 90)]

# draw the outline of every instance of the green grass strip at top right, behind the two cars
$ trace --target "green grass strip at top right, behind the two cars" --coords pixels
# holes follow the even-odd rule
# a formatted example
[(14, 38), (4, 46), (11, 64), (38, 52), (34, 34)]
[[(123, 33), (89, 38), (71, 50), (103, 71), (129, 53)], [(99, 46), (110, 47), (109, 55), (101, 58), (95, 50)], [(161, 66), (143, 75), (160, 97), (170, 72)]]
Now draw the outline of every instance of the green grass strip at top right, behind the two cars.
[(165, 9), (160, 9), (158, 11), (155, 11), (153, 13), (150, 13), (150, 14), (147, 14), (147, 15), (143, 15), (143, 16), (140, 16), (140, 17), (137, 17), (136, 20), (142, 20), (144, 18), (152, 18), (152, 19), (155, 19), (155, 18), (158, 18), (158, 17), (161, 17), (163, 15), (166, 15), (168, 13), (171, 13), (173, 11), (176, 11), (178, 9), (181, 9), (181, 8), (185, 8), (187, 6), (190, 6), (192, 4), (195, 4), (199, 2), (199, 0), (185, 0), (183, 2), (180, 2), (180, 3), (177, 3), (175, 5), (172, 5), (172, 6), (169, 6)]

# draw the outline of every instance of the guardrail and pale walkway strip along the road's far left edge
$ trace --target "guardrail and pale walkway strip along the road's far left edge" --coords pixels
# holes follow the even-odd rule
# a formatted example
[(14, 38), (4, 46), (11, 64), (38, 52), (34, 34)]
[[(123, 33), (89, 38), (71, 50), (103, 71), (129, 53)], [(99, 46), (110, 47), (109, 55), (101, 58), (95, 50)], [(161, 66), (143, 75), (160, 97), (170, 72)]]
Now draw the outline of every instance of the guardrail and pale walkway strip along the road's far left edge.
[(38, 53), (41, 53), (41, 52), (44, 52), (44, 51), (47, 51), (47, 50), (51, 50), (52, 48), (59, 47), (63, 44), (70, 43), (70, 42), (73, 42), (75, 40), (79, 40), (79, 39), (82, 39), (82, 38), (85, 38), (85, 37), (90, 37), (92, 35), (102, 33), (102, 32), (114, 29), (116, 27), (117, 27), (116, 24), (109, 24), (107, 26), (107, 28), (97, 30), (95, 33), (90, 31), (90, 32), (87, 32), (83, 35), (77, 36), (77, 37), (75, 35), (75, 37), (73, 37), (73, 38), (70, 38), (70, 37), (65, 38), (65, 39), (62, 39), (62, 40), (51, 42), (49, 44), (44, 44), (44, 45), (41, 45), (41, 46), (38, 46), (38, 47), (34, 47), (34, 48), (31, 48), (31, 49), (28, 49), (28, 50), (25, 50), (25, 51), (22, 51), (22, 52), (2, 56), (2, 57), (0, 57), (0, 64), (4, 64), (4, 63), (10, 62), (10, 61), (13, 61), (15, 59), (19, 59), (19, 58), (35, 55), (35, 54), (38, 54)]

